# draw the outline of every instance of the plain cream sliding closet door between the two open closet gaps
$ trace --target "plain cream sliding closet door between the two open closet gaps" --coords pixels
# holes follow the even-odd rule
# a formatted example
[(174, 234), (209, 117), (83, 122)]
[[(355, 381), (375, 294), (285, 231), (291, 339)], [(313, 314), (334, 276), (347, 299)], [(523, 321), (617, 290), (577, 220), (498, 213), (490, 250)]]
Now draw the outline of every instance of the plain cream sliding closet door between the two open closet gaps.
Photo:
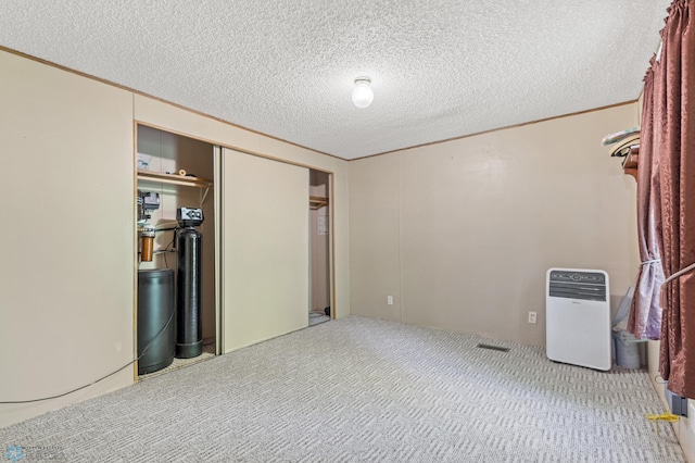
[(225, 352), (308, 325), (308, 170), (224, 149)]

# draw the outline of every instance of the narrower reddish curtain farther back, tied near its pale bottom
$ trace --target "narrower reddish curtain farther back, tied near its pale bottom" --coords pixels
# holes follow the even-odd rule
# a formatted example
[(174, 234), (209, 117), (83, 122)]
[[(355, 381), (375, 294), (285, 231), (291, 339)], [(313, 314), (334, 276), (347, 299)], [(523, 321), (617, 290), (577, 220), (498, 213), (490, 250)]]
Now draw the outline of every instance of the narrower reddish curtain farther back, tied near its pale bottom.
[[(654, 66), (654, 59), (652, 59)], [(661, 306), (659, 288), (664, 272), (659, 259), (658, 235), (655, 229), (654, 199), (658, 198), (658, 183), (654, 182), (654, 71), (644, 77), (644, 99), (637, 161), (637, 239), (640, 242), (640, 274), (630, 308), (628, 330), (635, 337), (659, 339)]]

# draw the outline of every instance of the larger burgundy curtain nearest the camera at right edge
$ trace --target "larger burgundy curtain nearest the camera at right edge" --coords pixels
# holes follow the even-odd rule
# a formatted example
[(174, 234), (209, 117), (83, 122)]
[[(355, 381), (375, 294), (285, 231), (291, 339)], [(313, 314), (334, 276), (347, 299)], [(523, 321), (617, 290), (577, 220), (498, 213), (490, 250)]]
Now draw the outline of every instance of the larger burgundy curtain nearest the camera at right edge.
[[(675, 0), (654, 71), (657, 234), (668, 279), (695, 263), (695, 0)], [(695, 271), (661, 287), (659, 371), (673, 392), (695, 398)]]

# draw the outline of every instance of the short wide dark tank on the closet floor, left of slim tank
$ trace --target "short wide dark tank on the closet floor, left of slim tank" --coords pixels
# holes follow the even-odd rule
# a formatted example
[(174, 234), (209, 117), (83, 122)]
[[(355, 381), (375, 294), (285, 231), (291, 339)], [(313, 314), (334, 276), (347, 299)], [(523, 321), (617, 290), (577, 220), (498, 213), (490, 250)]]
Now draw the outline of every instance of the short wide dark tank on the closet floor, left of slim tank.
[(138, 356), (142, 355), (138, 361), (139, 375), (165, 368), (174, 361), (176, 320), (173, 315), (174, 271), (138, 271)]

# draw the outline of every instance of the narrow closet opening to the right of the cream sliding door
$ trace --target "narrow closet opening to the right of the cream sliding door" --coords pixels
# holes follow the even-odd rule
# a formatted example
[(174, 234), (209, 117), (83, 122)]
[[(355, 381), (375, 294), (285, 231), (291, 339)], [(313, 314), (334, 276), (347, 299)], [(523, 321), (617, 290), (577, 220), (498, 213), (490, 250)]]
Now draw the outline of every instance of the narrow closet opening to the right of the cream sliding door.
[(331, 175), (309, 170), (309, 326), (334, 317), (330, 302), (330, 191)]

